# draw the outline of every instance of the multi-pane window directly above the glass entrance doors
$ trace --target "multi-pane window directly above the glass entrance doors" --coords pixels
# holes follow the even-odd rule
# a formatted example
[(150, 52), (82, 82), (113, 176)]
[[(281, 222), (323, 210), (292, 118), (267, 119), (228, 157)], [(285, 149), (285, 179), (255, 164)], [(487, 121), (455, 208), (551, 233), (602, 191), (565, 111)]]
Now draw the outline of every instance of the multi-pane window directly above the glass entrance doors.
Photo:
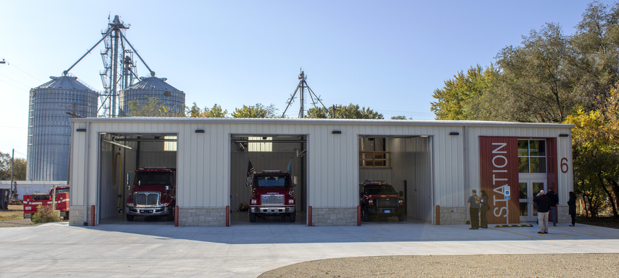
[(518, 140), (518, 173), (546, 173), (545, 140)]

